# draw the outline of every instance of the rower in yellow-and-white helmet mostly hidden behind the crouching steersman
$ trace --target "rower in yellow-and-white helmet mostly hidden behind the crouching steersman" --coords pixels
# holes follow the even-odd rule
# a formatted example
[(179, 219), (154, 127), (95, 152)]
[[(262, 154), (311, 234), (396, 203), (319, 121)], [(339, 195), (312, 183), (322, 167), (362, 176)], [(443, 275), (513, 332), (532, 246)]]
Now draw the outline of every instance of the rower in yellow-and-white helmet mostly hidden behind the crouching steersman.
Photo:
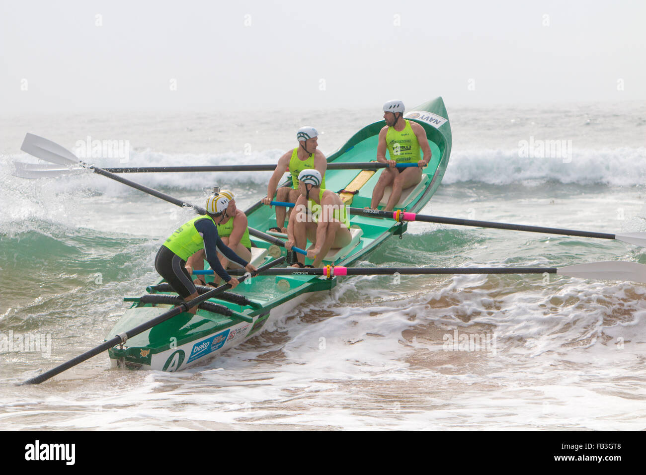
[[(214, 190), (219, 190), (219, 188), (214, 187)], [(249, 226), (247, 222), (247, 215), (245, 215), (242, 209), (236, 207), (236, 197), (233, 194), (233, 191), (222, 190), (219, 191), (220, 195), (225, 196), (229, 200), (229, 205), (222, 213), (222, 217), (218, 220), (218, 236), (222, 238), (222, 242), (229, 248), (232, 249), (242, 259), (251, 262), (251, 239), (249, 238)], [(224, 254), (218, 253), (220, 258), (220, 265), (223, 269), (229, 269), (232, 267), (232, 263)], [(200, 249), (194, 253), (186, 261), (186, 270), (189, 275), (193, 274), (194, 270), (203, 270), (204, 269), (204, 249)], [(213, 282), (208, 284), (205, 280), (198, 277), (193, 280), (194, 284), (200, 285), (209, 285), (209, 286), (218, 286), (220, 282), (220, 277), (214, 275)]]

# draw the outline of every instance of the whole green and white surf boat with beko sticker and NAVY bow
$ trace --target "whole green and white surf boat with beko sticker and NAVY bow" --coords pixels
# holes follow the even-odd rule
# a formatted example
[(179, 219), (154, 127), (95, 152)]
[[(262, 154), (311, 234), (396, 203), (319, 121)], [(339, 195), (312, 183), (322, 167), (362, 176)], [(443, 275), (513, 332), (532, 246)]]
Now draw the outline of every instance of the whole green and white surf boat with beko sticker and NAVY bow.
[[(432, 149), (432, 160), (422, 173), (421, 184), (402, 195), (397, 208), (405, 208), (414, 213), (424, 207), (439, 187), (451, 150), (451, 129), (448, 114), (441, 98), (429, 101), (404, 117), (415, 120), (426, 130)], [(375, 160), (377, 136), (384, 121), (372, 123), (357, 132), (339, 151), (328, 158), (328, 162), (369, 162)], [(373, 186), (379, 178), (377, 171), (359, 193), (353, 196), (352, 207), (370, 206)], [(329, 170), (326, 173), (328, 189), (344, 189), (360, 170)], [(406, 192), (405, 192), (406, 194)], [(249, 227), (266, 230), (275, 226), (275, 208), (257, 202), (246, 211)], [(366, 215), (353, 215), (350, 219), (353, 242), (331, 256), (333, 260), (324, 264), (351, 266), (359, 259), (380, 246), (392, 235), (406, 231), (406, 223), (373, 218)], [(255, 249), (255, 265), (269, 262), (269, 244), (252, 237)], [(273, 246), (275, 251), (277, 246)], [(278, 248), (283, 254), (285, 249)], [(207, 280), (212, 277), (207, 278)], [(162, 284), (162, 287), (158, 287)], [(240, 284), (235, 293), (245, 297), (245, 301), (231, 302), (223, 298), (210, 299), (218, 309), (200, 308), (196, 315), (180, 313), (166, 322), (140, 333), (123, 345), (110, 348), (109, 355), (113, 366), (126, 368), (178, 371), (205, 363), (216, 355), (237, 346), (262, 331), (271, 317), (278, 319), (286, 315), (311, 295), (331, 290), (337, 285), (337, 278), (313, 277), (309, 275), (289, 275), (281, 277), (258, 276)], [(149, 321), (174, 306), (172, 303), (149, 302), (151, 299), (171, 298), (176, 294), (163, 290), (163, 280), (147, 288), (148, 294), (142, 297), (129, 297), (132, 307), (125, 311), (120, 321), (112, 328), (108, 338), (114, 337)], [(163, 297), (167, 295), (169, 297)], [(223, 313), (228, 313), (225, 315)]]

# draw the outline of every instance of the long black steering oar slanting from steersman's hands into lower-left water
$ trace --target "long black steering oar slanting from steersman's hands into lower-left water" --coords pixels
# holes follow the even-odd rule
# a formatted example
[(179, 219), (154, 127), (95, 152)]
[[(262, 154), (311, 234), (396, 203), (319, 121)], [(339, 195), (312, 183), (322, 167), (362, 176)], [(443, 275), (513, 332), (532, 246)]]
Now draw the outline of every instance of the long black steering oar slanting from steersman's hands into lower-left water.
[[(278, 259), (272, 260), (268, 264), (265, 264), (264, 266), (258, 268), (258, 270), (251, 275), (255, 276), (260, 273), (264, 273), (267, 271), (267, 269), (272, 268), (273, 266), (276, 266), (277, 264), (282, 264), (282, 262), (285, 260), (285, 257), (279, 257)], [(242, 282), (244, 279), (246, 279), (247, 276), (243, 275), (240, 279), (238, 279), (240, 282)], [(182, 302), (178, 306), (172, 308), (169, 311), (166, 311), (159, 315), (158, 317), (155, 317), (154, 319), (147, 321), (145, 323), (142, 323), (139, 326), (136, 326), (135, 328), (132, 328), (132, 330), (129, 330), (128, 332), (121, 333), (120, 335), (117, 335), (116, 337), (112, 338), (109, 341), (106, 341), (103, 344), (99, 344), (99, 346), (96, 346), (95, 348), (92, 348), (92, 350), (89, 350), (82, 355), (78, 355), (76, 358), (70, 359), (70, 361), (67, 361), (67, 363), (59, 364), (59, 366), (56, 366), (56, 368), (53, 368), (43, 374), (39, 374), (36, 377), (32, 377), (31, 379), (27, 379), (24, 381), (23, 385), (37, 385), (39, 383), (42, 383), (43, 381), (46, 381), (47, 379), (50, 379), (52, 376), (56, 376), (59, 373), (62, 373), (65, 370), (68, 370), (69, 368), (72, 368), (72, 366), (76, 366), (79, 363), (83, 363), (83, 361), (86, 361), (90, 359), (93, 356), (98, 355), (99, 353), (105, 352), (105, 350), (109, 350), (112, 348), (112, 346), (115, 346), (117, 344), (123, 344), (125, 343), (129, 338), (134, 337), (135, 335), (139, 335), (139, 333), (143, 333), (146, 330), (149, 330), (155, 325), (160, 324), (161, 322), (165, 322), (168, 319), (171, 319), (175, 315), (179, 315), (183, 311), (188, 311), (189, 308), (194, 307), (203, 301), (206, 301), (208, 299), (211, 299), (211, 297), (215, 297), (218, 295), (218, 293), (222, 293), (228, 288), (231, 288), (229, 284), (223, 284), (217, 288), (214, 288), (213, 290), (209, 290), (207, 293), (203, 293), (199, 297), (195, 297), (192, 301), (189, 302)]]

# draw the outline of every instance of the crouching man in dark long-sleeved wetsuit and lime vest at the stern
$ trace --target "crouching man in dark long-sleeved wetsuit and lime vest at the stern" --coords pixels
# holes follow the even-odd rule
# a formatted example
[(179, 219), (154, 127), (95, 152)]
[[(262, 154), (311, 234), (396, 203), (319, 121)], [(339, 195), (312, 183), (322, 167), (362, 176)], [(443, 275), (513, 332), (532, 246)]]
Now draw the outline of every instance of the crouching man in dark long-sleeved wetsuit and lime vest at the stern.
[[(190, 301), (200, 295), (191, 280), (191, 275), (185, 268), (186, 260), (200, 249), (204, 249), (206, 260), (214, 273), (230, 284), (232, 289), (240, 282), (222, 268), (216, 249), (220, 249), (226, 257), (238, 262), (248, 272), (257, 270), (253, 264), (229, 249), (218, 235), (216, 225), (222, 221), (227, 206), (229, 206), (229, 199), (226, 196), (219, 194), (209, 196), (205, 206), (206, 215), (197, 216), (182, 224), (157, 252), (155, 269), (185, 301)], [(195, 314), (196, 311), (197, 307), (189, 309), (189, 313)]]

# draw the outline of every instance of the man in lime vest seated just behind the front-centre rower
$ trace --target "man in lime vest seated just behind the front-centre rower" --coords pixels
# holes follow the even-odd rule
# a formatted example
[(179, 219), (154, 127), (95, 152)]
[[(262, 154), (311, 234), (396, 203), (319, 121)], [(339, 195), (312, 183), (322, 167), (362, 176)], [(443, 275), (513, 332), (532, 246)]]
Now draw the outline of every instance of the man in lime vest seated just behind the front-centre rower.
[[(325, 189), (325, 172), (328, 168), (328, 160), (317, 149), (317, 129), (314, 127), (301, 127), (298, 129), (296, 138), (298, 140), (298, 147), (280, 157), (278, 165), (276, 165), (276, 169), (269, 179), (267, 196), (263, 198), (262, 202), (268, 204), (270, 207), (274, 194), (276, 194), (276, 201), (293, 203), (297, 200), (298, 196), (300, 196), (298, 193), (298, 174), (304, 169), (317, 169), (318, 173), (323, 177), (321, 187)], [(282, 186), (276, 192), (278, 182), (280, 182), (283, 174), (287, 171), (291, 173), (291, 187)], [(286, 216), (286, 207), (276, 206), (276, 227), (272, 227), (269, 231), (286, 233), (287, 229), (284, 227)]]

